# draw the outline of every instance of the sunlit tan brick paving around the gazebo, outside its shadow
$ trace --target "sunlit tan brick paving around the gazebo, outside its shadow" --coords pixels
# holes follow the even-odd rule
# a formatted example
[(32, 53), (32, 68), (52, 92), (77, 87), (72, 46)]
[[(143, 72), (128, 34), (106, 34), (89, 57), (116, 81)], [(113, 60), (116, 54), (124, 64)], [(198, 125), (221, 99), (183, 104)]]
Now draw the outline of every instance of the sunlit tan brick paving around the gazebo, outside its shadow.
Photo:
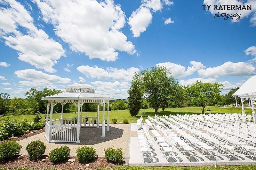
[(104, 149), (112, 147), (123, 148), (124, 157), (126, 161), (129, 161), (129, 147), (130, 147), (130, 137), (137, 136), (136, 131), (131, 131), (131, 124), (110, 124), (109, 131), (105, 130), (105, 137), (101, 137), (101, 126), (100, 128), (81, 128), (80, 129), (80, 144), (76, 143), (61, 143), (61, 142), (50, 142), (46, 141), (44, 137), (44, 132), (28, 137), (26, 139), (18, 141), (23, 148), (20, 154), (28, 155), (25, 150), (28, 143), (40, 139), (46, 145), (45, 155), (48, 155), (53, 148), (67, 145), (71, 150), (71, 155), (76, 156), (76, 148), (82, 146), (83, 144), (91, 145), (95, 148), (96, 154), (100, 157), (104, 156)]

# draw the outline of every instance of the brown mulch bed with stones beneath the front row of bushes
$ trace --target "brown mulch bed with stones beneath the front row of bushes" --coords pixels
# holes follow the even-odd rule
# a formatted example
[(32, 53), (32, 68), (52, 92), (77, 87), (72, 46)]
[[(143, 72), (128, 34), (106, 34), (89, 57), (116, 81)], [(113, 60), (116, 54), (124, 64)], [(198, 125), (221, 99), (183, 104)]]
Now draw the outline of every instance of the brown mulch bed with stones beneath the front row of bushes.
[[(28, 155), (24, 155), (23, 159), (18, 159), (19, 155), (16, 155), (14, 158), (0, 161), (0, 168), (7, 168), (7, 169), (13, 169), (13, 168), (20, 168), (20, 167), (28, 167), (33, 169), (61, 169), (61, 170), (76, 170), (76, 169), (92, 169), (96, 170), (99, 168), (111, 168), (115, 167), (121, 164), (113, 164), (107, 162), (107, 159), (105, 157), (98, 157), (97, 159), (94, 159), (90, 162), (87, 162), (86, 164), (89, 164), (89, 166), (86, 166), (86, 164), (81, 164), (78, 162), (76, 157), (69, 157), (68, 159), (76, 159), (75, 162), (70, 163), (68, 162), (68, 159), (65, 161), (62, 161), (60, 163), (53, 164), (50, 162), (49, 158), (46, 158), (46, 155), (43, 155), (38, 161), (29, 161)], [(45, 159), (45, 162), (41, 162), (42, 159)]]

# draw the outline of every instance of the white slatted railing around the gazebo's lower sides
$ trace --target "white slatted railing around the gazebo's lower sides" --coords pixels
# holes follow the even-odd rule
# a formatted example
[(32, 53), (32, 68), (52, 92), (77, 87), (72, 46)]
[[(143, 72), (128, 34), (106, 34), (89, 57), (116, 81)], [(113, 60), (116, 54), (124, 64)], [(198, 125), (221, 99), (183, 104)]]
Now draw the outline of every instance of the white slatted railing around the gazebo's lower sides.
[[(80, 127), (97, 127), (97, 116), (82, 117)], [(56, 119), (45, 123), (45, 137), (49, 142), (76, 142), (77, 117)]]

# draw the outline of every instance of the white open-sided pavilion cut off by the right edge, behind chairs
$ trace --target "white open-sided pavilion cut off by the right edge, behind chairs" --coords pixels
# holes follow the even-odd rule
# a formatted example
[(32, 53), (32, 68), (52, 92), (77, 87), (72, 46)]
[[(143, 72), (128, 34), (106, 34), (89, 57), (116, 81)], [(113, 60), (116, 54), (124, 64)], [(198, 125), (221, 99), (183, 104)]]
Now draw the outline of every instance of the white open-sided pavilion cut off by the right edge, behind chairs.
[(249, 108), (252, 108), (253, 122), (254, 124), (256, 124), (256, 114), (254, 110), (254, 105), (256, 102), (256, 76), (252, 76), (251, 78), (249, 78), (236, 92), (234, 92), (234, 94), (232, 94), (232, 96), (235, 96), (235, 98), (237, 96), (241, 98), (243, 115), (245, 115), (244, 101), (247, 101), (249, 103)]

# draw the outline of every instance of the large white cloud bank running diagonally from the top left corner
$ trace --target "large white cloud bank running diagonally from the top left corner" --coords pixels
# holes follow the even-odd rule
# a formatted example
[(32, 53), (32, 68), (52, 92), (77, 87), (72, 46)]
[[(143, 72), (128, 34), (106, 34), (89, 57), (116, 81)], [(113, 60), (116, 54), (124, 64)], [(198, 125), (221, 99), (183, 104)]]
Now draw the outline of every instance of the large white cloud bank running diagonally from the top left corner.
[[(29, 12), (19, 2), (13, 0), (0, 1), (9, 4), (10, 8), (0, 9), (0, 36), (5, 44), (19, 51), (19, 59), (38, 69), (47, 72), (55, 72), (52, 67), (61, 56), (65, 56), (65, 50), (61, 44), (50, 39), (41, 29), (37, 29)], [(27, 30), (27, 34), (19, 29)]]

